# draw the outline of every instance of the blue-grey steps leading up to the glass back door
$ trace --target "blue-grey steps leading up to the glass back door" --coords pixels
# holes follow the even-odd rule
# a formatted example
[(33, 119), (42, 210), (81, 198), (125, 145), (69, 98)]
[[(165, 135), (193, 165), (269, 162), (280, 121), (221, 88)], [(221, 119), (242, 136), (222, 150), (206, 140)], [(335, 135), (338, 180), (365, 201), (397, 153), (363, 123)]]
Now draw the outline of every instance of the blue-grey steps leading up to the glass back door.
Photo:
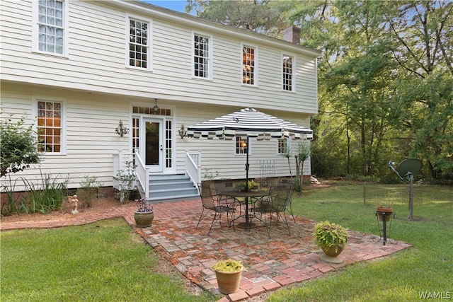
[(149, 202), (171, 202), (200, 197), (197, 187), (184, 174), (149, 175)]

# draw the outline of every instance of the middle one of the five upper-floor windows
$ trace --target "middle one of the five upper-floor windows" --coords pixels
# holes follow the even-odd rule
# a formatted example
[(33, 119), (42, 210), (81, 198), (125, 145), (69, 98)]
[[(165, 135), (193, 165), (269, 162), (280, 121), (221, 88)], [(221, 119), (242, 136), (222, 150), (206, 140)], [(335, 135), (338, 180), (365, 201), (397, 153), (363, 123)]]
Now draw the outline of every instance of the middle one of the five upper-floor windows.
[(210, 37), (197, 35), (193, 36), (193, 71), (194, 76), (210, 78)]

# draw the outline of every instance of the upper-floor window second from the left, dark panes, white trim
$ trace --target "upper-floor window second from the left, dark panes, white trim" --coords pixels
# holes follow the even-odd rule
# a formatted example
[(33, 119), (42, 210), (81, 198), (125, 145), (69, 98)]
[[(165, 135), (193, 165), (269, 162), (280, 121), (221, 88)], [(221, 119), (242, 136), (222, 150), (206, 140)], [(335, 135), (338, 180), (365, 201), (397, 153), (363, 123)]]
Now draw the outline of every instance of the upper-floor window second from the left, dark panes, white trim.
[(149, 67), (149, 23), (129, 19), (129, 66)]

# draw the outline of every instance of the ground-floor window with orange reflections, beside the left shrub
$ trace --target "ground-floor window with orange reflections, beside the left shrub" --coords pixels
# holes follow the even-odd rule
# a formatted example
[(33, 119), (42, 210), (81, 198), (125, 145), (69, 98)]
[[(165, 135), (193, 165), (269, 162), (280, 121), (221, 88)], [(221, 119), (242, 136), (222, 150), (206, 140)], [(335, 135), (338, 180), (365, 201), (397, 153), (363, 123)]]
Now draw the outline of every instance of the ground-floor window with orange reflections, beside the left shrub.
[(62, 102), (38, 100), (38, 151), (62, 152), (62, 113)]

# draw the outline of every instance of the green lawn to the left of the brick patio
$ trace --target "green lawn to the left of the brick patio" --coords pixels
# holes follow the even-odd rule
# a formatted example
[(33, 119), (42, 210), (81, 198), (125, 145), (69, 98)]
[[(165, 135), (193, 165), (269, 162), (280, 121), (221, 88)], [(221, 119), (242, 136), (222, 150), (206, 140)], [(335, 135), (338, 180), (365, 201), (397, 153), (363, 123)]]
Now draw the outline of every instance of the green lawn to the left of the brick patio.
[(213, 301), (191, 296), (179, 273), (120, 219), (1, 232), (1, 301)]

